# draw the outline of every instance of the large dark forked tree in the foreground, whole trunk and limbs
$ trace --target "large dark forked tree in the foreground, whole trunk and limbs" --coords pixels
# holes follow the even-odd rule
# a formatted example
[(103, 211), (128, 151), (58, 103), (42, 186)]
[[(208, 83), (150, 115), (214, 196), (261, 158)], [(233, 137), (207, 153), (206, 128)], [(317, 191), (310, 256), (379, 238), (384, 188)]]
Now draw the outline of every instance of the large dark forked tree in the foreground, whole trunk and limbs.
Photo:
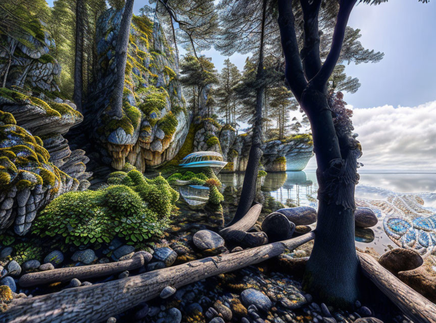
[[(303, 285), (314, 296), (342, 306), (353, 304), (358, 297), (354, 188), (358, 180), (357, 158), (361, 155), (361, 147), (352, 135), (351, 121), (344, 111), (344, 104), (329, 106), (332, 96), (329, 79), (337, 63), (347, 60), (346, 57), (359, 62), (359, 55), (344, 50), (344, 45), (349, 47), (344, 39), (349, 30), (348, 18), (356, 2), (339, 1), (331, 47), (322, 62), (320, 48), (325, 43), (320, 41), (319, 12), (325, 4), (321, 0), (300, 0), (300, 4), (292, 0), (278, 1), (285, 76), (310, 121), (318, 167), (316, 236)], [(376, 2), (380, 1), (372, 1)], [(301, 34), (300, 24), (296, 24), (294, 12), (301, 12), (303, 18), (301, 51), (297, 37)], [(371, 52), (362, 52), (361, 49), (358, 50), (361, 56), (371, 56)], [(333, 102), (331, 98), (330, 102)]]

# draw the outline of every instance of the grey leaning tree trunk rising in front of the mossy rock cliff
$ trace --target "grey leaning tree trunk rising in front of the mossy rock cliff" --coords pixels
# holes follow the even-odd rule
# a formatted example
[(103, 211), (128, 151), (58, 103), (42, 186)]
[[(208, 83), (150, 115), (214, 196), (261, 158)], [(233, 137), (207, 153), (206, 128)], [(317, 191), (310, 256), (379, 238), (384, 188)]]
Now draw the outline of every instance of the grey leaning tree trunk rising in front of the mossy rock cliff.
[(123, 91), (124, 77), (127, 63), (127, 48), (129, 46), (130, 23), (133, 15), (134, 0), (127, 0), (124, 7), (123, 18), (121, 19), (120, 31), (118, 33), (115, 57), (117, 60), (117, 81), (115, 83), (112, 114), (118, 118), (123, 116)]

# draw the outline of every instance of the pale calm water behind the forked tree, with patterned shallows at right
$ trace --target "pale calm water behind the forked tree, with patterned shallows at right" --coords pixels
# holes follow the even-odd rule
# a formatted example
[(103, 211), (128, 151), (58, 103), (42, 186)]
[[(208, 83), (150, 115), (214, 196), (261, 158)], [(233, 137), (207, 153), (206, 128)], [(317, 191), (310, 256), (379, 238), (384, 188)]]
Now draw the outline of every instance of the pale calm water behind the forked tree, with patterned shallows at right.
[[(224, 187), (233, 186), (240, 190), (244, 175), (220, 174), (220, 179)], [(304, 171), (268, 173), (262, 179), (261, 185), (264, 196), (274, 197), (287, 206), (301, 205), (316, 208), (317, 189), (315, 172)], [(358, 247), (362, 249), (372, 247), (379, 254), (395, 247), (412, 248), (424, 256), (431, 252), (436, 253), (436, 222), (433, 229), (427, 231), (414, 226), (417, 217), (436, 219), (433, 217), (436, 213), (435, 173), (360, 173), (355, 197), (358, 206), (370, 207), (379, 219), (377, 225), (372, 228), (356, 229)], [(396, 227), (391, 225), (394, 220), (402, 221), (409, 226), (412, 237), (404, 235), (401, 239), (395, 238)], [(418, 241), (418, 238), (414, 237), (415, 234), (426, 235), (425, 238), (430, 240), (430, 245), (425, 245), (424, 242), (423, 248), (422, 241)], [(433, 234), (434, 246), (430, 236)]]

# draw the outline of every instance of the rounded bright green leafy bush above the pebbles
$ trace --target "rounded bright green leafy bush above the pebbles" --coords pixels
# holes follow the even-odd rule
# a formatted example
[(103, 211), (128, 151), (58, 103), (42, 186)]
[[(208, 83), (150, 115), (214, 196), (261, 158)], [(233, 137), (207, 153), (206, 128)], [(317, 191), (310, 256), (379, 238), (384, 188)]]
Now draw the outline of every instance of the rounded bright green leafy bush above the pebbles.
[(41, 212), (33, 232), (77, 246), (116, 236), (143, 241), (161, 233), (179, 198), (162, 176), (149, 180), (132, 170), (112, 173), (108, 182), (120, 184), (59, 196)]

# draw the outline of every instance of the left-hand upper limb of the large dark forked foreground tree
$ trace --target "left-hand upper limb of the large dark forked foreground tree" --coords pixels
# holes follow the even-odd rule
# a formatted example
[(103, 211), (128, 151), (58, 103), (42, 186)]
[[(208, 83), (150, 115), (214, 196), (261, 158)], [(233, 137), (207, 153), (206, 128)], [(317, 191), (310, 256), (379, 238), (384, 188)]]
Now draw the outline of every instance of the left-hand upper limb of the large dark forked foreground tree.
[(300, 101), (301, 94), (307, 85), (303, 65), (298, 52), (295, 34), (295, 17), (292, 12), (292, 0), (279, 0), (279, 28), (283, 53), (286, 60), (285, 75), (295, 98)]

